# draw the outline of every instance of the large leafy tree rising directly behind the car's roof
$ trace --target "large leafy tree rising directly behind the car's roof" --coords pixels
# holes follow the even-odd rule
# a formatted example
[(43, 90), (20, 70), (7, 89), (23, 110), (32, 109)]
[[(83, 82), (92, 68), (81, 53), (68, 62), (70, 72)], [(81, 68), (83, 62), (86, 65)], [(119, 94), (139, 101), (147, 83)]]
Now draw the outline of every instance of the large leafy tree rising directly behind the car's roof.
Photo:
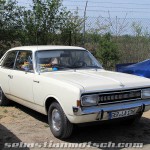
[(78, 32), (80, 26), (79, 16), (67, 11), (62, 0), (33, 0), (32, 10), (24, 11), (23, 21), (22, 43), (26, 44), (60, 44), (62, 35), (69, 37), (70, 31)]

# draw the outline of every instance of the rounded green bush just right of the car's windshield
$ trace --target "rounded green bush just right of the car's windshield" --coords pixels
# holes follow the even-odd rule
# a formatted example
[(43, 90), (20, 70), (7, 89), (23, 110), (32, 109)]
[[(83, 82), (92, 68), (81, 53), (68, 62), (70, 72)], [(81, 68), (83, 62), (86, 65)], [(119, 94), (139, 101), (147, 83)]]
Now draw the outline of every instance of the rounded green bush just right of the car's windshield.
[(112, 69), (119, 60), (119, 51), (110, 33), (101, 37), (96, 56), (107, 69)]

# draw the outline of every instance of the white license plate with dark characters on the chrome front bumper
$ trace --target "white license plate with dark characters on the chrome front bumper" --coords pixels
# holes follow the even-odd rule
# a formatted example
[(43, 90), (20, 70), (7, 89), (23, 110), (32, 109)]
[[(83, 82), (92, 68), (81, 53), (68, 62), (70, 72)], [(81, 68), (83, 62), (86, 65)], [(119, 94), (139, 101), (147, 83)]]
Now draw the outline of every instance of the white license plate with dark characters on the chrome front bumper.
[(122, 118), (136, 114), (136, 109), (109, 112), (109, 119)]

